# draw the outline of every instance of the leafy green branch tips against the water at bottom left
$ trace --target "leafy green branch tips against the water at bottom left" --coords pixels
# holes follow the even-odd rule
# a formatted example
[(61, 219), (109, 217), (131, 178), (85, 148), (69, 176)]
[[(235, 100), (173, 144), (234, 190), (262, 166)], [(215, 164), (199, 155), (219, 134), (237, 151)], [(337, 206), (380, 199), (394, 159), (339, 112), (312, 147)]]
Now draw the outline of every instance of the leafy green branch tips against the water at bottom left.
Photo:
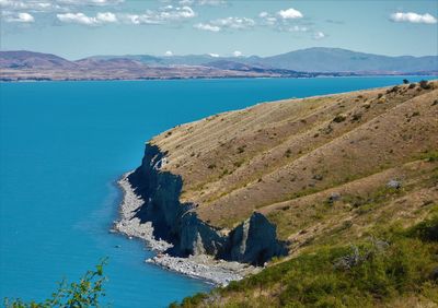
[(102, 260), (95, 266), (95, 270), (88, 271), (79, 282), (67, 283), (62, 281), (59, 287), (48, 298), (42, 303), (31, 301), (24, 303), (20, 298), (10, 300), (4, 299), (4, 307), (8, 308), (80, 308), (80, 307), (99, 307), (100, 297), (105, 296), (103, 284), (106, 277), (103, 275), (103, 268), (106, 259)]

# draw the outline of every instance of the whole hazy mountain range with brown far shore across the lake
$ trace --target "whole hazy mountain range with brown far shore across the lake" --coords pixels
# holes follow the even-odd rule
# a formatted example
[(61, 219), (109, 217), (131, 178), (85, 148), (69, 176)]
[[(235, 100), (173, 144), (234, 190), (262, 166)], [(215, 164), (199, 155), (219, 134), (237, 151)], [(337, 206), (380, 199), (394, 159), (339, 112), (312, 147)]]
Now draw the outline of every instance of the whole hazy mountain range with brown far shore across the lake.
[(3, 81), (438, 74), (438, 56), (390, 57), (315, 47), (270, 57), (125, 55), (70, 61), (18, 50), (0, 51), (0, 69)]

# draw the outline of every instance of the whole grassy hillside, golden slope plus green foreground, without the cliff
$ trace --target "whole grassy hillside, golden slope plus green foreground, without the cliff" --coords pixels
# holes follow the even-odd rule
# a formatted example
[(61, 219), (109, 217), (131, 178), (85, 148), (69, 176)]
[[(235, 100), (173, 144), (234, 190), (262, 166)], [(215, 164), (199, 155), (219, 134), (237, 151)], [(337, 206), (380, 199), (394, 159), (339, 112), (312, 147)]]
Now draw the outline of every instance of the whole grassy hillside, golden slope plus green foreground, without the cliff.
[(152, 143), (203, 220), (227, 233), (258, 211), (289, 248), (184, 307), (437, 307), (438, 81), (260, 104)]

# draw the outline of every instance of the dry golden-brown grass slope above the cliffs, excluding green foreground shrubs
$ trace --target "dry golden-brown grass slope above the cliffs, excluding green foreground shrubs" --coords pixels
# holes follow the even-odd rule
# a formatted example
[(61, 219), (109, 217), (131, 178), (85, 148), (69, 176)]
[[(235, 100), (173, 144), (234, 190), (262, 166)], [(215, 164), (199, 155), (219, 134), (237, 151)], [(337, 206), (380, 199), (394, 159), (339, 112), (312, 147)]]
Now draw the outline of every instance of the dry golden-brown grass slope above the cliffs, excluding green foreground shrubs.
[[(379, 220), (412, 223), (427, 210), (422, 204), (436, 203), (438, 163), (422, 155), (438, 151), (437, 97), (435, 81), (429, 90), (260, 104), (176, 127), (152, 143), (169, 153), (164, 168), (183, 177), (181, 199), (198, 204), (201, 218), (229, 228), (257, 210), (298, 249), (315, 238), (360, 236)], [(403, 188), (384, 191), (393, 178)], [(327, 204), (332, 192), (341, 201)]]

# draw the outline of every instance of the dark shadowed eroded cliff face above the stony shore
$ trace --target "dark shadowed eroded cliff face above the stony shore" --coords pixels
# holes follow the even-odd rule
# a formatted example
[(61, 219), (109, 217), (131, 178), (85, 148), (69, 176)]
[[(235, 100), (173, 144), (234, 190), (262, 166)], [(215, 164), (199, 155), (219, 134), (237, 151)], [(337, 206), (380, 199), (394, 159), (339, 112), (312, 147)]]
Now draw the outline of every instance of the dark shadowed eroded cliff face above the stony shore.
[(286, 254), (285, 245), (276, 238), (276, 227), (260, 213), (237, 226), (229, 235), (203, 222), (193, 203), (181, 203), (181, 176), (162, 170), (165, 153), (147, 144), (142, 164), (128, 179), (137, 194), (146, 200), (136, 216), (152, 222), (154, 236), (173, 244), (173, 256), (207, 253), (252, 264), (263, 264), (274, 256)]

